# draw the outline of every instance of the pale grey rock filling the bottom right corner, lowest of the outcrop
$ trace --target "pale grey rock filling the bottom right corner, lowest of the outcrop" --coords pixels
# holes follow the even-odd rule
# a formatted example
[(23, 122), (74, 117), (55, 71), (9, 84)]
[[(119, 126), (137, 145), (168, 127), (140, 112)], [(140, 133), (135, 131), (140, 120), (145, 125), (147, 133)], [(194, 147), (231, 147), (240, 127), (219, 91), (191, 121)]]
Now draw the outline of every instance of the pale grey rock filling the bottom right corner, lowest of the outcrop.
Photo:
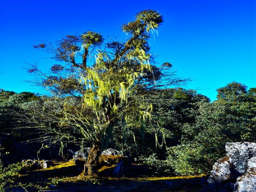
[(233, 192), (256, 192), (256, 174), (248, 173), (238, 177)]

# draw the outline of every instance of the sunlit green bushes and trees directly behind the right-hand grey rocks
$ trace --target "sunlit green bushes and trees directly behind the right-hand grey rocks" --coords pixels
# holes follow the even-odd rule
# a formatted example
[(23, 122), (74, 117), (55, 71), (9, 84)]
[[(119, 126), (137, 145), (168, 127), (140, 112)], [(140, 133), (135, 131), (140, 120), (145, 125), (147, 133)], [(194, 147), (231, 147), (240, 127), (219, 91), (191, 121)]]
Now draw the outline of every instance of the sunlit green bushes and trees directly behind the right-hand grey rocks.
[(177, 174), (207, 172), (226, 142), (256, 140), (255, 89), (233, 82), (217, 92), (214, 102), (198, 103), (196, 121), (184, 124), (180, 145), (169, 148), (167, 160)]

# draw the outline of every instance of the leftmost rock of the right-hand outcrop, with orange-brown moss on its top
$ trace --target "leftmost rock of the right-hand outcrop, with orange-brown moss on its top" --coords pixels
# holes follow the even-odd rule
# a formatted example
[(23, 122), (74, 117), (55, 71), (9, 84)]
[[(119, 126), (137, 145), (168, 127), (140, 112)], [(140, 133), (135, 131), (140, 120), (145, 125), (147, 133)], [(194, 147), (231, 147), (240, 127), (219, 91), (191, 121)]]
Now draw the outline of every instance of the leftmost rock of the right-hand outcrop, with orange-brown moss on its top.
[(223, 182), (226, 180), (230, 180), (231, 175), (231, 164), (229, 161), (229, 157), (225, 156), (223, 158), (218, 159), (218, 161), (213, 165), (211, 175), (208, 178), (208, 183), (214, 182)]

